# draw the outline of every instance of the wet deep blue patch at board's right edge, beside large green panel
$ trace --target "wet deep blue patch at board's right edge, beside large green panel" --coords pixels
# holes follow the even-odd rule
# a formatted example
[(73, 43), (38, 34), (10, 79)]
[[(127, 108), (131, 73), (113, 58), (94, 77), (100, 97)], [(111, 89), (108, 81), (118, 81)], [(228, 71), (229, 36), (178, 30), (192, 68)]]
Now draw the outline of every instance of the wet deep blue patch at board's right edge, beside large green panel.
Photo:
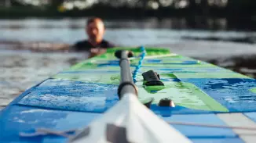
[(241, 78), (200, 78), (180, 79), (195, 84), (217, 102), (224, 105), (230, 112), (256, 111), (256, 94), (250, 91), (256, 87), (256, 80)]

